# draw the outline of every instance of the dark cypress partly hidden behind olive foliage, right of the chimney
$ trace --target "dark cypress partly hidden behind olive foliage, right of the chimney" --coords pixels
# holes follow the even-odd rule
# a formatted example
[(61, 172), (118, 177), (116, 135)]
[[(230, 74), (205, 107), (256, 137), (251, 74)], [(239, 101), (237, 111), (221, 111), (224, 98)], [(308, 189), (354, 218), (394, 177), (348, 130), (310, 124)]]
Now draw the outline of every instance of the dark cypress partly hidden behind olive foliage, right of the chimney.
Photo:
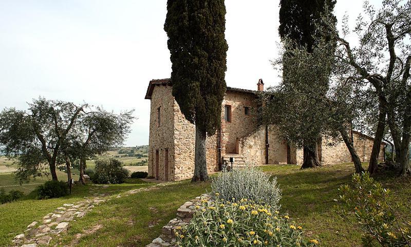
[[(315, 45), (321, 39), (331, 39), (330, 36), (323, 36), (317, 29), (317, 25), (321, 23), (322, 13), (325, 13), (325, 10), (332, 12), (335, 3), (337, 3), (337, 0), (281, 0), (279, 10), (280, 25), (278, 28), (280, 37), (294, 42), (296, 47), (305, 47), (308, 52), (312, 52)], [(335, 16), (334, 22), (337, 23)], [(284, 55), (290, 55), (290, 53), (286, 52)], [(285, 63), (283, 66), (284, 79), (288, 77), (287, 73), (289, 71)], [(319, 87), (324, 87), (328, 84), (328, 82), (319, 83), (322, 84), (318, 85)], [(317, 142), (304, 140), (302, 168), (320, 166), (321, 163), (317, 151), (318, 142), (321, 142), (321, 136), (319, 136)]]

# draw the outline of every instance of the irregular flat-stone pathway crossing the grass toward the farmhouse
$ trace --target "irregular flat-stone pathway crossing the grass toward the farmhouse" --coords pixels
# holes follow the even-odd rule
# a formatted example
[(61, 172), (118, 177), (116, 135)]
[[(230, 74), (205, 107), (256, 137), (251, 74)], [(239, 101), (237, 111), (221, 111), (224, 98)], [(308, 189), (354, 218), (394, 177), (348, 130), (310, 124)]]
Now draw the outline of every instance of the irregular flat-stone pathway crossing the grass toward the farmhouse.
[(111, 199), (120, 198), (122, 196), (132, 195), (141, 191), (150, 191), (159, 186), (166, 186), (174, 182), (156, 184), (149, 187), (132, 189), (124, 194), (109, 195), (108, 193), (100, 193), (99, 187), (106, 188), (108, 185), (93, 185), (90, 188), (91, 197), (84, 197), (85, 200), (66, 203), (61, 207), (56, 208), (43, 217), (40, 221), (33, 221), (27, 226), (27, 230), (22, 234), (18, 234), (12, 240), (14, 247), (38, 247), (46, 246), (52, 238), (58, 237), (61, 233), (66, 232), (70, 221), (83, 218), (88, 212), (101, 203)]

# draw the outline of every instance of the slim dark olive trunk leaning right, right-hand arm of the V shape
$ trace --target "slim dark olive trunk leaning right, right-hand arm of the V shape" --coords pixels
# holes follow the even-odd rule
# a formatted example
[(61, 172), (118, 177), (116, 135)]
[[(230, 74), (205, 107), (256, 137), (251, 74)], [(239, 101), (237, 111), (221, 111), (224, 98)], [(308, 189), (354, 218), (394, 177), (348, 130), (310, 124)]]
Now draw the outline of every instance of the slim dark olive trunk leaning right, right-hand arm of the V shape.
[(371, 175), (377, 171), (378, 156), (380, 155), (381, 140), (382, 140), (382, 137), (384, 135), (384, 130), (385, 130), (385, 117), (387, 115), (385, 99), (380, 99), (379, 101), (380, 101), (379, 103), (380, 113), (378, 115), (377, 131), (376, 131), (376, 136), (374, 138), (374, 143), (372, 144), (371, 157), (369, 158), (369, 165), (368, 165), (368, 172)]

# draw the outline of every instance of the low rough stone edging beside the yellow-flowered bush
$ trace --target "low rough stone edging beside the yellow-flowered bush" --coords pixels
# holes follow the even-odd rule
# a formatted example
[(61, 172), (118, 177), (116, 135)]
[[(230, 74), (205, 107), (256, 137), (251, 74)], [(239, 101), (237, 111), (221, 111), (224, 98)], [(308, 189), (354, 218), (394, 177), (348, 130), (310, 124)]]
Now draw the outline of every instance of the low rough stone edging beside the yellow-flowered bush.
[(177, 209), (177, 217), (170, 220), (169, 223), (163, 226), (162, 234), (153, 240), (153, 242), (145, 245), (145, 247), (174, 247), (176, 246), (176, 238), (174, 230), (178, 230), (181, 226), (188, 224), (193, 218), (196, 211), (195, 206), (201, 206), (201, 200), (210, 201), (208, 194), (203, 194), (193, 200), (185, 202)]

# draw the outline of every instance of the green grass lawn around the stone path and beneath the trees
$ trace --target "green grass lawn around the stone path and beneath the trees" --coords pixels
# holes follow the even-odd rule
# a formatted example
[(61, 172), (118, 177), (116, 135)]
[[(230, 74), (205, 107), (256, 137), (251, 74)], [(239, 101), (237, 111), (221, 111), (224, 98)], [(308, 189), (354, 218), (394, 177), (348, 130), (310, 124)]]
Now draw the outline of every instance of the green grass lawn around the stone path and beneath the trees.
[[(338, 188), (349, 183), (352, 164), (340, 164), (316, 169), (300, 170), (298, 166), (263, 166), (265, 172), (278, 178), (283, 191), (282, 212), (287, 212), (300, 223), (308, 236), (320, 239), (321, 246), (360, 246), (361, 233), (353, 229), (333, 211), (338, 202)], [(393, 191), (393, 199), (404, 204), (400, 215), (411, 220), (411, 184), (408, 178), (378, 178)], [(132, 181), (134, 183), (132, 183)], [(138, 181), (138, 180), (137, 180)], [(128, 180), (121, 185), (99, 187), (101, 192), (122, 193), (127, 189), (149, 184)], [(0, 245), (9, 244), (34, 220), (40, 220), (63, 203), (81, 200), (88, 195), (91, 185), (74, 189), (73, 195), (51, 200), (23, 200), (0, 205)], [(103, 203), (84, 218), (70, 223), (69, 231), (58, 246), (145, 246), (161, 234), (161, 227), (176, 216), (177, 208), (196, 196), (210, 191), (210, 183), (173, 183), (152, 191), (121, 196)], [(152, 227), (150, 227), (152, 226)], [(98, 229), (98, 230), (97, 230)], [(77, 234), (82, 237), (76, 239)], [(79, 235), (78, 235), (79, 236)], [(4, 239), (4, 240), (3, 240)]]

